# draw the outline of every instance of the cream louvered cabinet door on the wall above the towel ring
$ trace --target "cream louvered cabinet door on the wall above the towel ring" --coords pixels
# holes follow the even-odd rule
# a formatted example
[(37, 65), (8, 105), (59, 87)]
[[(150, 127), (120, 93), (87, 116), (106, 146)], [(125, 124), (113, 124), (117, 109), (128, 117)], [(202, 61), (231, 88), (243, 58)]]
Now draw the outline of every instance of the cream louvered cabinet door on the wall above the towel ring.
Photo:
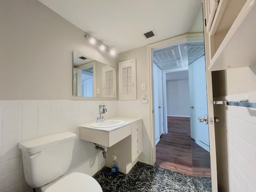
[(136, 60), (119, 63), (119, 99), (136, 100)]

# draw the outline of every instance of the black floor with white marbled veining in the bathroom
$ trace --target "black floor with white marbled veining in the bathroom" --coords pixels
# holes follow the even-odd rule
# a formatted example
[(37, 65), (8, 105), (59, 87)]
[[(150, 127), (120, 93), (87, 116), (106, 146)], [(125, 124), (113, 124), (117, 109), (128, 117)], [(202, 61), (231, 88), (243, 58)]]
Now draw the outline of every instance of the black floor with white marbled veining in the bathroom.
[(128, 174), (104, 167), (93, 176), (103, 192), (211, 192), (210, 177), (193, 177), (138, 162)]

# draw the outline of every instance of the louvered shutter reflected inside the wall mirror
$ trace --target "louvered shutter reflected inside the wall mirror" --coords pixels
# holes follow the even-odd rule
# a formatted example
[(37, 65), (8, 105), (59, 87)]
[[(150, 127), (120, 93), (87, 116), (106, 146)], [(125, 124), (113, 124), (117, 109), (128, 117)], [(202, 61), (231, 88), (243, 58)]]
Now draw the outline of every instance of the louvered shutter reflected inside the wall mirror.
[(102, 94), (103, 97), (116, 97), (116, 69), (102, 67)]

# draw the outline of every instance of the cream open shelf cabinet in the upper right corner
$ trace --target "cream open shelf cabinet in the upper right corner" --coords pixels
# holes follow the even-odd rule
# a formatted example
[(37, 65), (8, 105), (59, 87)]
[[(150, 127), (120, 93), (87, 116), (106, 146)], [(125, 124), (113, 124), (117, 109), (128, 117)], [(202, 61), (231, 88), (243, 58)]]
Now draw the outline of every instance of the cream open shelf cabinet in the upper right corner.
[[(220, 0), (217, 6), (214, 2), (216, 3), (215, 0), (204, 0), (205, 24), (209, 34), (206, 41), (209, 42), (210, 51), (208, 70), (225, 70), (256, 64), (256, 1)], [(215, 6), (215, 11), (214, 8), (210, 9)]]

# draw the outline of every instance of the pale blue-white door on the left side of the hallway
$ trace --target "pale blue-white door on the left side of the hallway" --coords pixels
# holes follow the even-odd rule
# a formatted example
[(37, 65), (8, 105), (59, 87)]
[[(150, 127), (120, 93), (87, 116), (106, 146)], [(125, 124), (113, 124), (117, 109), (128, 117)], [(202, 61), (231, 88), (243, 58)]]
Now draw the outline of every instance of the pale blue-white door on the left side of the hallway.
[(164, 132), (163, 126), (163, 92), (162, 92), (162, 71), (153, 66), (153, 87), (154, 87), (154, 118), (155, 118), (155, 142), (160, 140)]

